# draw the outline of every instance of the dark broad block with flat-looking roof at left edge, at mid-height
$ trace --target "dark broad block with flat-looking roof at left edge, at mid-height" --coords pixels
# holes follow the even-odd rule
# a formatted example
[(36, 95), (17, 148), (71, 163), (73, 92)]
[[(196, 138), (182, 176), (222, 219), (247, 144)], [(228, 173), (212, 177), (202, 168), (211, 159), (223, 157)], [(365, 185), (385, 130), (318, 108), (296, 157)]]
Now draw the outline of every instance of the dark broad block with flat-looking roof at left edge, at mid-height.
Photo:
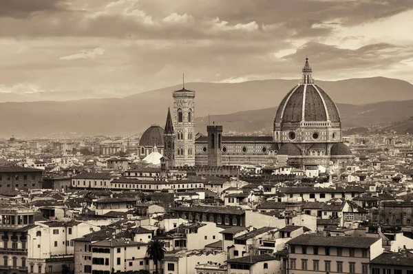
[(40, 189), (43, 170), (31, 167), (0, 167), (0, 193), (10, 193), (16, 189)]

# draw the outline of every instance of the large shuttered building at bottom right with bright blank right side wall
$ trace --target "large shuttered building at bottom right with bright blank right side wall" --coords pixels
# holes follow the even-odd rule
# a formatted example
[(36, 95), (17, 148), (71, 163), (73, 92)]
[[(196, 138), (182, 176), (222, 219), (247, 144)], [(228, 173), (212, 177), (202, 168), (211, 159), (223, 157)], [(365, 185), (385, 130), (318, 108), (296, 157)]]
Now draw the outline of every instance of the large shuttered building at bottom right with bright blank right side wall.
[(303, 234), (286, 242), (288, 273), (369, 273), (369, 263), (383, 253), (381, 238)]

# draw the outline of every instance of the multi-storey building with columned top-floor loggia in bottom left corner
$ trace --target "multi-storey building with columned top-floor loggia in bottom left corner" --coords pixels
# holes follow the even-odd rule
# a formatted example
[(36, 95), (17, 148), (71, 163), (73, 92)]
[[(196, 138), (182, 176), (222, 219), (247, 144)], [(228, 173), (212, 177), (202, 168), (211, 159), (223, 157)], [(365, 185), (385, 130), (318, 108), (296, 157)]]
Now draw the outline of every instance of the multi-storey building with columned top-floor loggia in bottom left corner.
[(22, 206), (0, 208), (1, 273), (28, 273), (28, 230), (33, 226), (33, 209)]

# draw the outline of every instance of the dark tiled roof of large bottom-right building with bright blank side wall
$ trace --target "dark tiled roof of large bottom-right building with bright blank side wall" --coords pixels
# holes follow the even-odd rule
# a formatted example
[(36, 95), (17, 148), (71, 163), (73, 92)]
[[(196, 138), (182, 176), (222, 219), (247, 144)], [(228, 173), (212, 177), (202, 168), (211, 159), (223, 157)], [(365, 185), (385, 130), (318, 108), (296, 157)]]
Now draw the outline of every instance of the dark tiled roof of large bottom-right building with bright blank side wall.
[(329, 237), (319, 234), (302, 234), (292, 240), (289, 240), (288, 242), (286, 242), (286, 244), (300, 244), (305, 246), (337, 246), (367, 249), (377, 241), (381, 241), (381, 239), (372, 237)]

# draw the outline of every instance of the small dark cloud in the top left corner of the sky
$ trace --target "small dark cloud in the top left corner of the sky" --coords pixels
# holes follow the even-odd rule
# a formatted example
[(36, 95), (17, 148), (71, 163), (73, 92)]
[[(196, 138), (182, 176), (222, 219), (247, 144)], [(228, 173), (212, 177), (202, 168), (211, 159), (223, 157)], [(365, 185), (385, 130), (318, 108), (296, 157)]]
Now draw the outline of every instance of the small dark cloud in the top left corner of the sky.
[(66, 8), (66, 0), (1, 0), (0, 17), (23, 19), (35, 12), (56, 12)]

